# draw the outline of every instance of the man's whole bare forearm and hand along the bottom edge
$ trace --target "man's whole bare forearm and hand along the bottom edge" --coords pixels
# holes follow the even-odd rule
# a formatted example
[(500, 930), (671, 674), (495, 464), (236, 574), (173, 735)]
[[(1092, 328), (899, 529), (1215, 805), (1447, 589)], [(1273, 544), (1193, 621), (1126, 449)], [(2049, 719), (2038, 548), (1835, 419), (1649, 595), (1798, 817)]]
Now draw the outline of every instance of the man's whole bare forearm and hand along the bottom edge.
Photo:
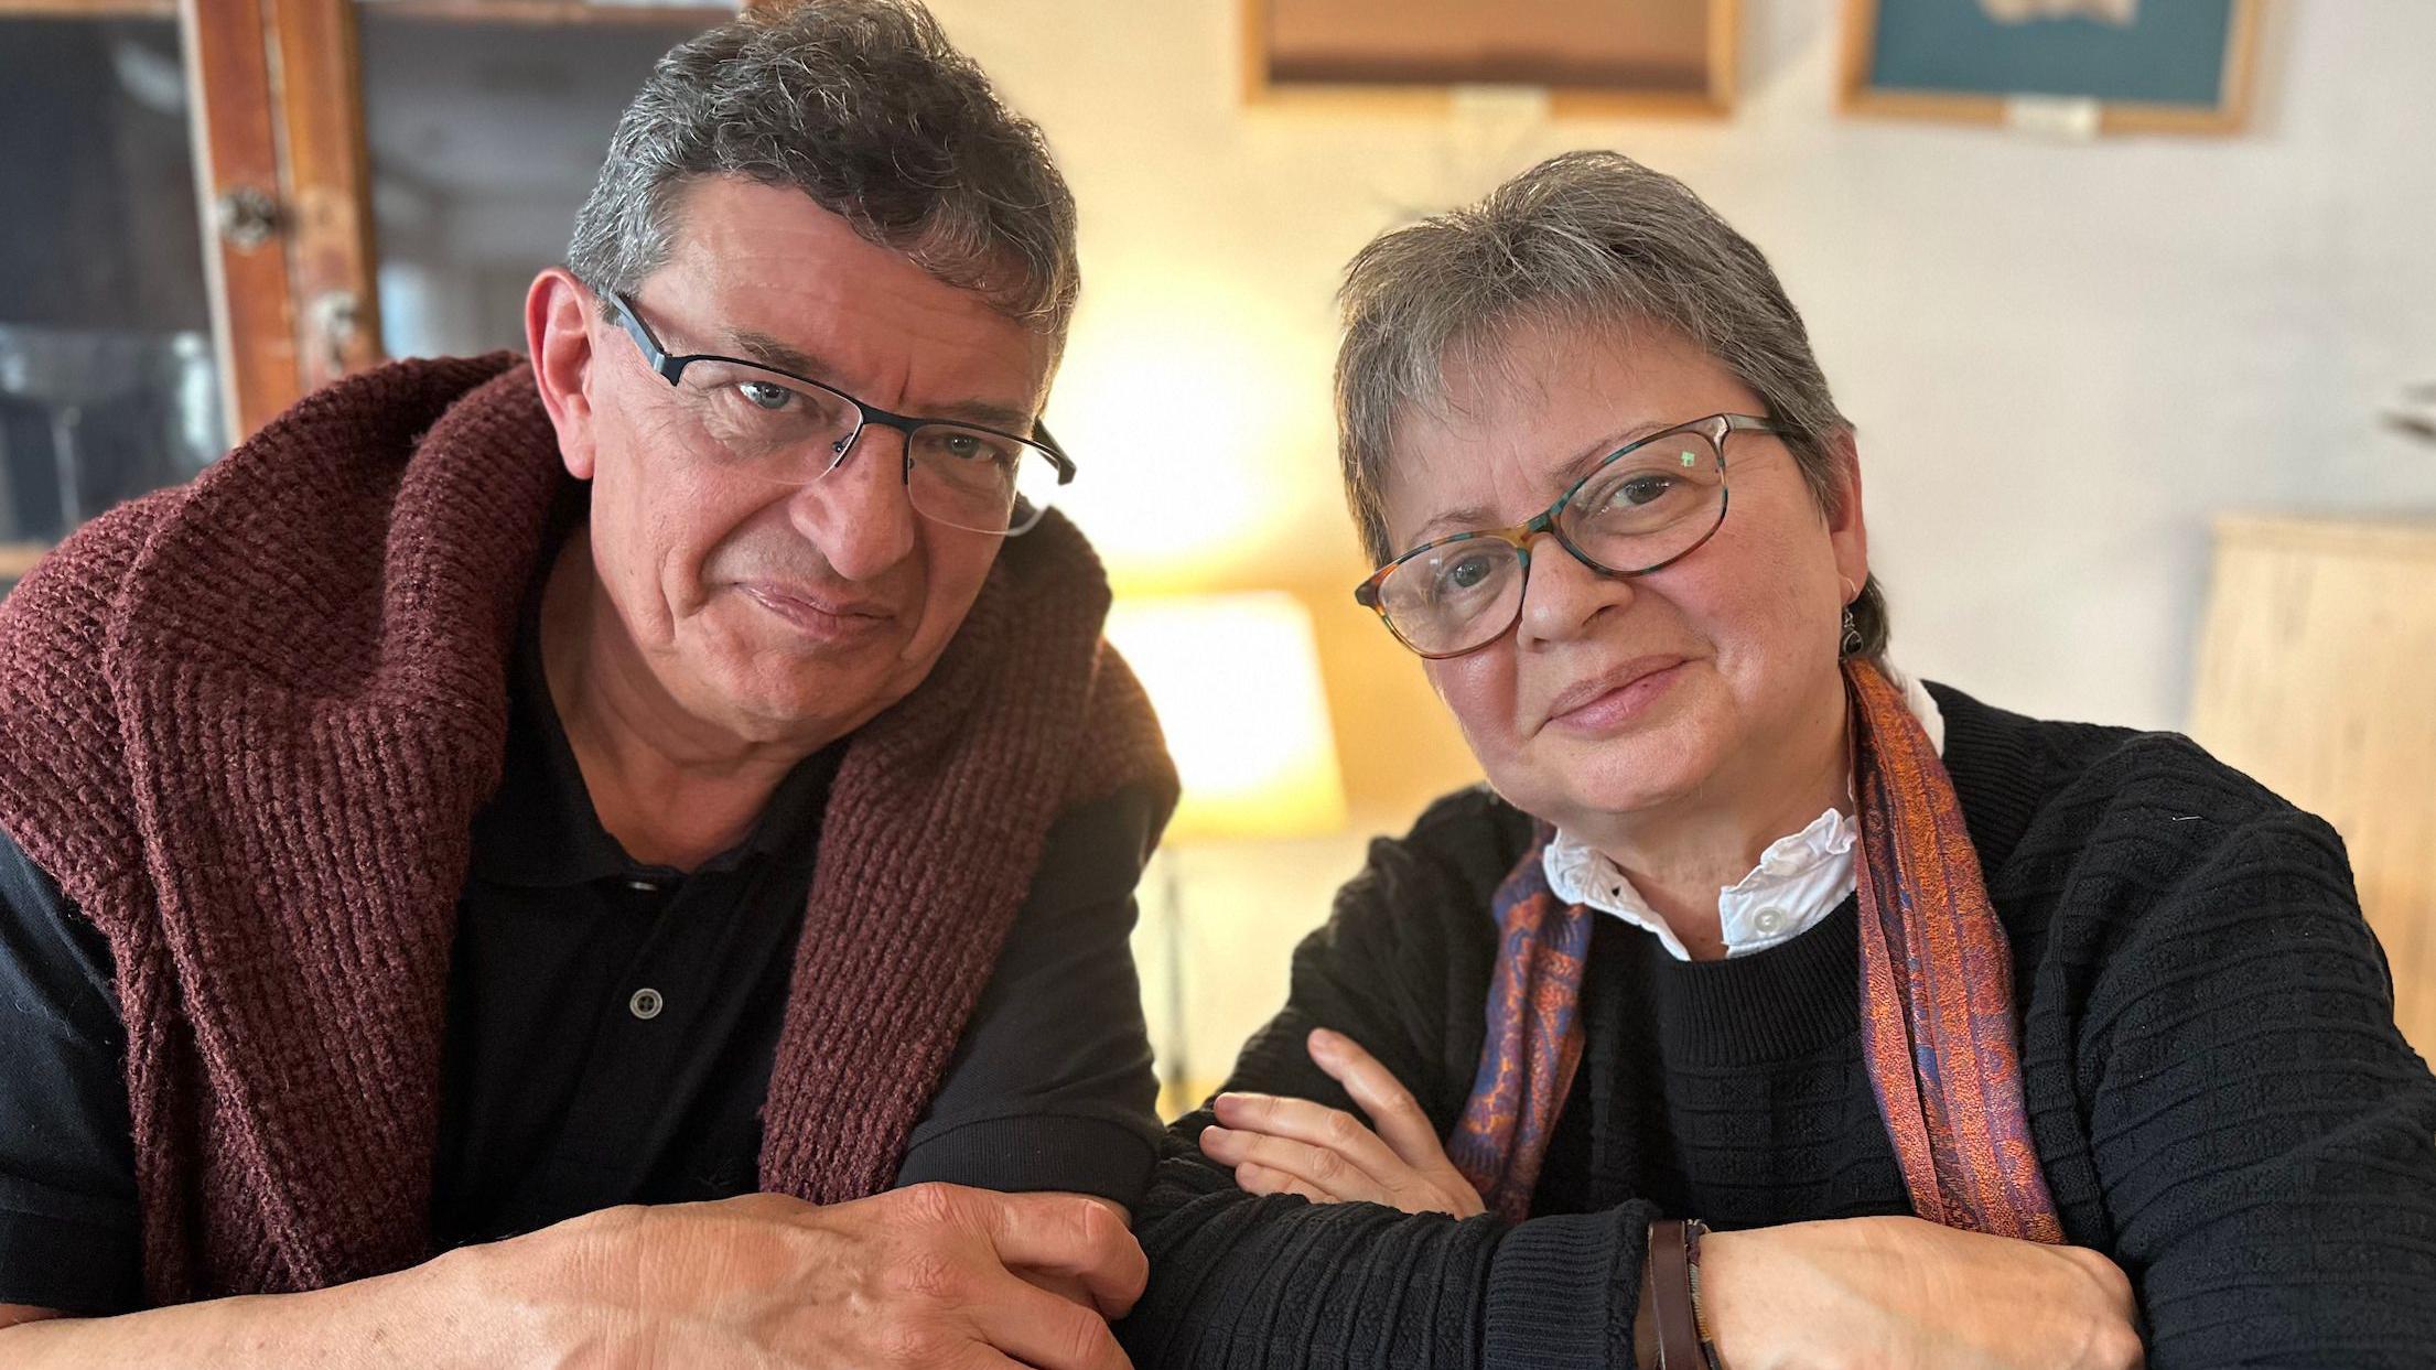
[(304, 1294), (10, 1307), (34, 1321), (0, 1319), (0, 1363), (1125, 1370), (1108, 1319), (1147, 1275), (1123, 1209), (1082, 1194), (748, 1194), (585, 1214)]

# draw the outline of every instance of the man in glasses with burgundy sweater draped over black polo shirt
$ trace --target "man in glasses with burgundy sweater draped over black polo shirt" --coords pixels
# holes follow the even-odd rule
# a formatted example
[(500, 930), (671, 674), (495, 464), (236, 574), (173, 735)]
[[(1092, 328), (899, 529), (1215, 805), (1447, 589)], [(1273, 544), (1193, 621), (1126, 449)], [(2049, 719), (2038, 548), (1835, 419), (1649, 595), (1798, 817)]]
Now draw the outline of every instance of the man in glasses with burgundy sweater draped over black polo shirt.
[(1174, 778), (1045, 512), (1072, 197), (821, 0), (570, 261), (0, 614), (7, 1365), (1121, 1363)]

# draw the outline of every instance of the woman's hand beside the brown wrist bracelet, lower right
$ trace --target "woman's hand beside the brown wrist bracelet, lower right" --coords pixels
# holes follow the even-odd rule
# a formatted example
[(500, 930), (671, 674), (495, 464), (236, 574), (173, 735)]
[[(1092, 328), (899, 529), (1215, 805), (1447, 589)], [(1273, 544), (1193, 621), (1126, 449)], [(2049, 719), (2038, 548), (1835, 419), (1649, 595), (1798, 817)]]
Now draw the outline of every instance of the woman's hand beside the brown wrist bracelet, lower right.
[(2132, 1280), (2078, 1246), (1920, 1219), (1700, 1241), (1700, 1311), (1734, 1370), (2136, 1370)]

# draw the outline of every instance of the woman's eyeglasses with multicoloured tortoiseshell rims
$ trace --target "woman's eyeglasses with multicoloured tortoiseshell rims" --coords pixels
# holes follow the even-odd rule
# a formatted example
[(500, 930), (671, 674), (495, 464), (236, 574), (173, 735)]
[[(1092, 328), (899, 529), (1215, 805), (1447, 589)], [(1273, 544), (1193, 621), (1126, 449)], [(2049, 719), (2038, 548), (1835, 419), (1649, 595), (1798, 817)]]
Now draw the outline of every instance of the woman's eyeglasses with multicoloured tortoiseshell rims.
[(1554, 534), (1603, 575), (1649, 575), (1725, 524), (1725, 436), (1778, 434), (1751, 414), (1710, 414), (1608, 453), (1540, 517), (1425, 541), (1354, 587), (1396, 641), (1427, 658), (1479, 651), (1522, 619), (1530, 544)]

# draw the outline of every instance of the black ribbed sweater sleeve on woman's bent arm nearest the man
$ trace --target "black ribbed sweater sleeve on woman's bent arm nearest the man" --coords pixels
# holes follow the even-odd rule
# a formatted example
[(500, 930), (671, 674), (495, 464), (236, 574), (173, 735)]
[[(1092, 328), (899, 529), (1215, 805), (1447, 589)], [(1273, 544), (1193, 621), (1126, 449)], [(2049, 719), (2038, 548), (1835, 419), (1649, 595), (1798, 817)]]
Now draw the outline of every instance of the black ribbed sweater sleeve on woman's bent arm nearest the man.
[[(1371, 843), (1225, 1087), (1354, 1109), (1303, 1051), (1328, 1026), (1447, 1134), (1481, 1048), (1488, 897), (1525, 839), (1510, 809), (1466, 792), (1403, 841)], [(1255, 1197), (1201, 1155), (1211, 1121), (1203, 1107), (1169, 1129), (1135, 1224), (1150, 1290), (1118, 1329), (1135, 1365), (1632, 1365), (1647, 1204), (1503, 1224)]]

